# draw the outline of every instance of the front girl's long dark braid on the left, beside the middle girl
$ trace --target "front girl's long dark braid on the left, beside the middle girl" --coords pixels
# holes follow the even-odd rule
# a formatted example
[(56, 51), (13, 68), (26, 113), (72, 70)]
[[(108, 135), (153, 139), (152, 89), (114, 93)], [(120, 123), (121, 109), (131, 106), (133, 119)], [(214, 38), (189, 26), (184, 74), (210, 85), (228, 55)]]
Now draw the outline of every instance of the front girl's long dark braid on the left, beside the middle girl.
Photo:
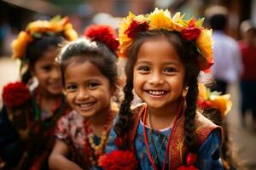
[[(127, 78), (124, 88), (125, 99), (122, 101), (119, 109), (119, 121), (114, 125), (114, 131), (117, 136), (124, 136), (132, 124), (131, 101), (133, 100), (133, 82), (132, 78)], [(125, 143), (124, 143), (125, 144)]]

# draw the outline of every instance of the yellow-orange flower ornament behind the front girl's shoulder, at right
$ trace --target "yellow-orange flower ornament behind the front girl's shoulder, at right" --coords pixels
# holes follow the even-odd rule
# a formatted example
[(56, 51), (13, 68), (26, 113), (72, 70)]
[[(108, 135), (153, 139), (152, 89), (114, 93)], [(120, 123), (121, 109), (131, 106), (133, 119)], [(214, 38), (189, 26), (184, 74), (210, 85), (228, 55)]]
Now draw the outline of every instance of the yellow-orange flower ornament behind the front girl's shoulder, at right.
[(197, 105), (201, 109), (206, 109), (209, 107), (214, 107), (218, 109), (221, 116), (225, 116), (232, 107), (232, 102), (230, 100), (230, 94), (220, 95), (218, 92), (211, 92), (210, 89), (202, 83), (198, 85), (199, 94), (197, 99)]

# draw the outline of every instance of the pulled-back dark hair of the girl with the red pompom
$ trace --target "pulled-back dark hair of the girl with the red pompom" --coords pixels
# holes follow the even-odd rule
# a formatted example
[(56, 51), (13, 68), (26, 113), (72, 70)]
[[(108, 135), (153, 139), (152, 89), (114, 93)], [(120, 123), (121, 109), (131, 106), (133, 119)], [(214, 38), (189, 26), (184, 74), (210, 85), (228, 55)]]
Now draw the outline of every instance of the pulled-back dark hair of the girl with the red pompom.
[[(73, 59), (73, 60), (72, 60)], [(102, 72), (102, 75), (108, 78), (110, 85), (116, 88), (117, 82), (117, 65), (115, 61), (117, 55), (113, 53), (105, 44), (98, 41), (81, 38), (77, 41), (70, 42), (61, 51), (60, 65), (62, 83), (65, 84), (64, 73), (67, 66), (75, 63), (90, 61)]]

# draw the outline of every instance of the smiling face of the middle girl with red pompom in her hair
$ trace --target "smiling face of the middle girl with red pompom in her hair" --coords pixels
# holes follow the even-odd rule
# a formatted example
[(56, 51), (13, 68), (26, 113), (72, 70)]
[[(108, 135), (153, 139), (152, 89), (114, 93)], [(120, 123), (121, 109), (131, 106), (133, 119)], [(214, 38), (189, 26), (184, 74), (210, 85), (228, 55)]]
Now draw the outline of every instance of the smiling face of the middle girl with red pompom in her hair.
[(109, 111), (113, 90), (96, 65), (89, 61), (72, 63), (67, 65), (64, 77), (67, 101), (80, 115), (89, 117)]

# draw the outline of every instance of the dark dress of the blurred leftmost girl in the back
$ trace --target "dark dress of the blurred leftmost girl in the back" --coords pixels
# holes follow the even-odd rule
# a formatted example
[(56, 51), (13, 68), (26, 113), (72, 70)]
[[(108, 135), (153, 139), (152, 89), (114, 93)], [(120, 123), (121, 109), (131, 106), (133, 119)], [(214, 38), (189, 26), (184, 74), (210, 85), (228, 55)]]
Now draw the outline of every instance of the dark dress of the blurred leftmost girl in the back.
[[(21, 112), (23, 116), (27, 115), (29, 117), (28, 122), (26, 122), (29, 129), (26, 139), (20, 139), (18, 133), (20, 129), (14, 127), (15, 123), (9, 120), (8, 109), (3, 106), (3, 114), (0, 117), (0, 150), (1, 152), (4, 151), (3, 154), (5, 153), (4, 159), (10, 160), (8, 166), (15, 167), (19, 164), (19, 169), (49, 169), (48, 157), (55, 142), (55, 123), (62, 114), (70, 109), (64, 95), (61, 95), (56, 100), (55, 109), (52, 113), (42, 111), (38, 92), (38, 88), (32, 92), (32, 99), (28, 108), (25, 109), (20, 106), (15, 111), (15, 113)], [(8, 138), (4, 137), (3, 128), (5, 128), (4, 131), (10, 132)]]

